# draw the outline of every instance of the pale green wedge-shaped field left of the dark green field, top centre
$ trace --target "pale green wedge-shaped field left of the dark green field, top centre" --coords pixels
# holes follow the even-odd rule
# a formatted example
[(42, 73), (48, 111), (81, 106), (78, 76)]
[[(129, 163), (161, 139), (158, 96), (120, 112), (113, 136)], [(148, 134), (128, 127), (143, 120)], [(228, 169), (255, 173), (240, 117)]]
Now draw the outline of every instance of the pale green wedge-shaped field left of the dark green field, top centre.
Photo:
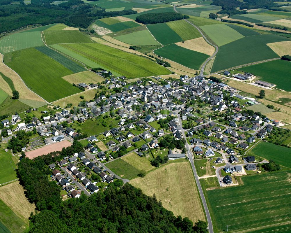
[(131, 44), (131, 45), (159, 45), (160, 43), (153, 38), (150, 32), (145, 29), (136, 31), (126, 35), (116, 36), (115, 39)]

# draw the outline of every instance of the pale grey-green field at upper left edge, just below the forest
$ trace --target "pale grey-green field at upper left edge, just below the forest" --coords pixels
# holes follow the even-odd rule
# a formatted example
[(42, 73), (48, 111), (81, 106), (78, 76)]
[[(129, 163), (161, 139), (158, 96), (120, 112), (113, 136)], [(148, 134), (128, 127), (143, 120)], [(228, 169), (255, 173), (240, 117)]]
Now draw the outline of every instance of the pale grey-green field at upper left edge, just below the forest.
[(0, 40), (0, 52), (5, 54), (41, 45), (43, 45), (43, 43), (39, 31), (15, 33), (9, 36), (4, 36)]

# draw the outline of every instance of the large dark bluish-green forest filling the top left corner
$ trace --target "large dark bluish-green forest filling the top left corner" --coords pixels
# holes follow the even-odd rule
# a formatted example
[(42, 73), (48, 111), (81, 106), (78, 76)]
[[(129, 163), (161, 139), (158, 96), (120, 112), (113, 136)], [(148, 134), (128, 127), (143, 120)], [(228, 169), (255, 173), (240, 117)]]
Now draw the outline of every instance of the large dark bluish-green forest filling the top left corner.
[[(70, 0), (59, 5), (52, 5), (53, 0), (31, 0), (31, 4), (10, 4), (1, 1), (0, 33), (17, 30), (28, 25), (47, 25), (63, 23), (70, 27), (87, 28), (96, 19), (137, 13), (134, 10), (105, 11), (79, 0)], [(7, 4), (6, 4), (7, 3)]]

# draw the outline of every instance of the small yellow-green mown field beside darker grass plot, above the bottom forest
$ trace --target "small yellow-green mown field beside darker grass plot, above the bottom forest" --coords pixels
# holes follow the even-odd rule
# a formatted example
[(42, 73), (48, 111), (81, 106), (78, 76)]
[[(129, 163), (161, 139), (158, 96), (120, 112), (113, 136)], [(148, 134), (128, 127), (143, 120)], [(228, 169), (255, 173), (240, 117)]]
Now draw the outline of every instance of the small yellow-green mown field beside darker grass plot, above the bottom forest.
[(140, 157), (135, 152), (125, 155), (121, 159), (138, 170), (145, 170), (148, 172), (155, 168), (152, 164), (150, 164), (150, 161), (146, 157)]

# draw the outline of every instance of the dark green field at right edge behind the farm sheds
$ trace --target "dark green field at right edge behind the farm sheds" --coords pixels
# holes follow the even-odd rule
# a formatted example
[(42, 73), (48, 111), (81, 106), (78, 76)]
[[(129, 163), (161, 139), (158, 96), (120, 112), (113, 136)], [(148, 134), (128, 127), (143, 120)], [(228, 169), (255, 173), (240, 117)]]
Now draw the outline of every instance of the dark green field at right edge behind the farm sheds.
[(276, 88), (291, 91), (290, 70), (291, 62), (284, 60), (274, 60), (246, 66), (242, 71), (259, 76), (263, 81), (276, 84)]

